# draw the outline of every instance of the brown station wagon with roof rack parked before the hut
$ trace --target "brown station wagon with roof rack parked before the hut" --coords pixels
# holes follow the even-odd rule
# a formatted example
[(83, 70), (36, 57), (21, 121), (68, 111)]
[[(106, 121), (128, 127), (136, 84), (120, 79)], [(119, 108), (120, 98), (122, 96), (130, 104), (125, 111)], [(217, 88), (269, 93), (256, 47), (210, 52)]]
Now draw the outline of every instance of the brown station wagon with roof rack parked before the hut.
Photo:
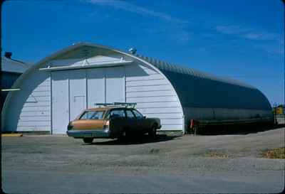
[(131, 134), (148, 133), (149, 136), (155, 136), (156, 130), (161, 128), (160, 119), (144, 117), (134, 108), (135, 103), (96, 105), (103, 107), (86, 109), (68, 124), (68, 136), (91, 143), (95, 138), (115, 139)]

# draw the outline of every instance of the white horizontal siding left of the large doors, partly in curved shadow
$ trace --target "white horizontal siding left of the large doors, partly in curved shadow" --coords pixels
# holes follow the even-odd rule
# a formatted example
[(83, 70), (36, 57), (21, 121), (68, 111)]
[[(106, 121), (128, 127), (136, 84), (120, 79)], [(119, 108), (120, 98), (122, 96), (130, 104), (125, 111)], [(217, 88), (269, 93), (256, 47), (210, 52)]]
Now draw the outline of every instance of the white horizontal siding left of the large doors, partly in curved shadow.
[(50, 72), (34, 71), (11, 96), (4, 130), (50, 131)]

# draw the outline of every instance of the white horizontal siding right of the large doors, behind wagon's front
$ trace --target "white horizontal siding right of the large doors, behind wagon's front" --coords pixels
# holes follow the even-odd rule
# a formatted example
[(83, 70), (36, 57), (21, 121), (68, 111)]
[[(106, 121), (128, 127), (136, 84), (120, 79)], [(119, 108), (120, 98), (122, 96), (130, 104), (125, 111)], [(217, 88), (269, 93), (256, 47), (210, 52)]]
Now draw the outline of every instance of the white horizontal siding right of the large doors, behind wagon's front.
[(183, 114), (176, 92), (159, 72), (144, 65), (125, 66), (126, 102), (137, 102), (147, 117), (160, 118), (161, 130), (182, 130)]

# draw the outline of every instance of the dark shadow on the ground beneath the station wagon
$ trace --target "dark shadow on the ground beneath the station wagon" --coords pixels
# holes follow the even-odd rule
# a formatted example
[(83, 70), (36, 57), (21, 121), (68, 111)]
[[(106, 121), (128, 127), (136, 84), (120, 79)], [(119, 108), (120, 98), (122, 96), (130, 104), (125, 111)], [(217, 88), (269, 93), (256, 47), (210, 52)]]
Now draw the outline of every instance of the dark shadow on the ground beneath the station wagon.
[(83, 144), (84, 146), (92, 146), (92, 145), (130, 145), (130, 144), (149, 144), (160, 141), (170, 141), (172, 139), (177, 138), (178, 136), (167, 136), (166, 134), (157, 134), (155, 138), (149, 137), (147, 135), (143, 136), (131, 136), (128, 139), (113, 139), (96, 142), (94, 139), (92, 144)]

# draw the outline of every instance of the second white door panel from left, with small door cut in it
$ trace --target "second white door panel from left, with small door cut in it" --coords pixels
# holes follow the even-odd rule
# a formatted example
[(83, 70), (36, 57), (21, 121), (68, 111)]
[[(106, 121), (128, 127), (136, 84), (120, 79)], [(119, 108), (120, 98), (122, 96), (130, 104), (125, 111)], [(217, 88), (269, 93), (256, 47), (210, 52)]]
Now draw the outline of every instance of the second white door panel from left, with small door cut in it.
[(86, 70), (69, 71), (70, 120), (86, 109)]

